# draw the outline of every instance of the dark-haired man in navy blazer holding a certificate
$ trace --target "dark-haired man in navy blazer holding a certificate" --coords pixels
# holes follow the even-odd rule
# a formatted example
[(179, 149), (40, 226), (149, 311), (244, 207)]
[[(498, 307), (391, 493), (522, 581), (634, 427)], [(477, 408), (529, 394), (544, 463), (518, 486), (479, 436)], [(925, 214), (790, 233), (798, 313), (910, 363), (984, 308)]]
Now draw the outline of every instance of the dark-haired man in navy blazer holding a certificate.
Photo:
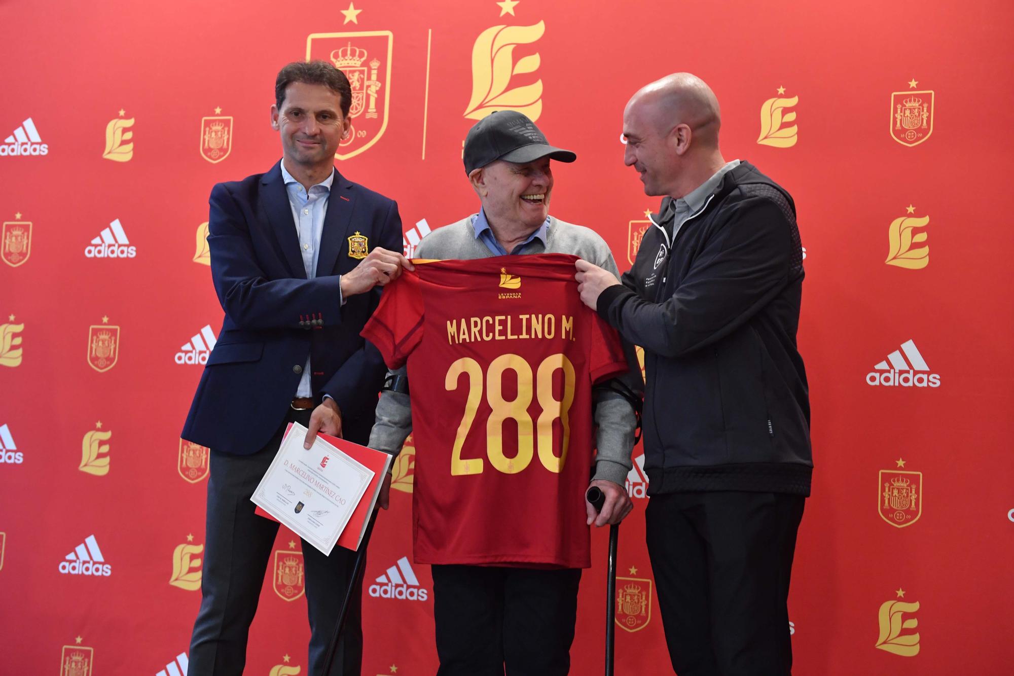
[[(352, 91), (330, 63), (292, 63), (278, 74), (272, 128), (282, 161), (267, 174), (211, 191), (208, 246), (225, 311), (183, 437), (211, 449), (202, 601), (190, 673), (241, 674), (278, 524), (249, 498), (289, 422), (365, 445), (383, 383), (380, 353), (359, 336), (380, 289), (411, 268), (397, 205), (334, 166), (349, 134)], [(389, 482), (388, 475), (385, 487)], [(386, 506), (386, 491), (381, 496)], [(303, 543), (310, 645), (321, 673), (354, 553)], [(359, 674), (360, 591), (332, 674)]]

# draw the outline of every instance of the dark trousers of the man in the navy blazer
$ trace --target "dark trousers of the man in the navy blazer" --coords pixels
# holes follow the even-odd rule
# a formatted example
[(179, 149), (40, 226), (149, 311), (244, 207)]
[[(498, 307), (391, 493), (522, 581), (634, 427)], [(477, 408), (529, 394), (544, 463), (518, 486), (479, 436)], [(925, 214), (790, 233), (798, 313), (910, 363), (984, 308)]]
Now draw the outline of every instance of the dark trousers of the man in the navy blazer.
[[(310, 411), (290, 409), (286, 423), (309, 422)], [(254, 514), (254, 490), (275, 457), (285, 423), (251, 456), (211, 451), (208, 518), (201, 610), (191, 637), (191, 676), (232, 676), (243, 673), (246, 638), (257, 612), (265, 570), (272, 558), (278, 523)], [(310, 676), (320, 676), (345, 590), (352, 576), (355, 552), (335, 547), (324, 556), (303, 542), (306, 606), (310, 622)], [(361, 585), (360, 585), (361, 588)], [(358, 676), (363, 656), (362, 590), (355, 592), (345, 631), (329, 676)]]

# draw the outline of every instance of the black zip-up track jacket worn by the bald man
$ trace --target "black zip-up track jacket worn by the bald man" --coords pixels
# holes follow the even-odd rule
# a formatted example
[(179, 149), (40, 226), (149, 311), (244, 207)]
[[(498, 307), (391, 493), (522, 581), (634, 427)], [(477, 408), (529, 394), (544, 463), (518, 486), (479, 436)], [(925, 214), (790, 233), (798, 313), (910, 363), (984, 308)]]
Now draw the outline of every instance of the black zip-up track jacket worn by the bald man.
[(671, 239), (666, 197), (598, 314), (644, 347), (649, 494), (809, 495), (809, 393), (796, 348), (803, 265), (792, 197), (728, 172)]

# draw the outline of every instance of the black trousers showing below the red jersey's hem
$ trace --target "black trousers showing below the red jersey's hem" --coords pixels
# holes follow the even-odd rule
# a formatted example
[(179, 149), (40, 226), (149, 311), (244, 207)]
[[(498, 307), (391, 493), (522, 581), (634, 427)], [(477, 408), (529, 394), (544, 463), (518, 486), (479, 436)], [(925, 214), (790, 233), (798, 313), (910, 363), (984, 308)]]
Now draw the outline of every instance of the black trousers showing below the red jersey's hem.
[(564, 676), (580, 568), (434, 565), (437, 676)]

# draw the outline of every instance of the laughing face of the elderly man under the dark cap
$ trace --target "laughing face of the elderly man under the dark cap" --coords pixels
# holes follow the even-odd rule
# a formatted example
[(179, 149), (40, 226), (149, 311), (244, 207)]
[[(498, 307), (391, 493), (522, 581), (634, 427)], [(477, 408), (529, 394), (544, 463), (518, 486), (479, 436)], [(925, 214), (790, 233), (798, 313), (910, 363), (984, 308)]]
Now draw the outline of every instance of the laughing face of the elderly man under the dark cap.
[(524, 164), (498, 159), (474, 170), (469, 178), (491, 223), (534, 230), (550, 215), (553, 172), (549, 157)]

